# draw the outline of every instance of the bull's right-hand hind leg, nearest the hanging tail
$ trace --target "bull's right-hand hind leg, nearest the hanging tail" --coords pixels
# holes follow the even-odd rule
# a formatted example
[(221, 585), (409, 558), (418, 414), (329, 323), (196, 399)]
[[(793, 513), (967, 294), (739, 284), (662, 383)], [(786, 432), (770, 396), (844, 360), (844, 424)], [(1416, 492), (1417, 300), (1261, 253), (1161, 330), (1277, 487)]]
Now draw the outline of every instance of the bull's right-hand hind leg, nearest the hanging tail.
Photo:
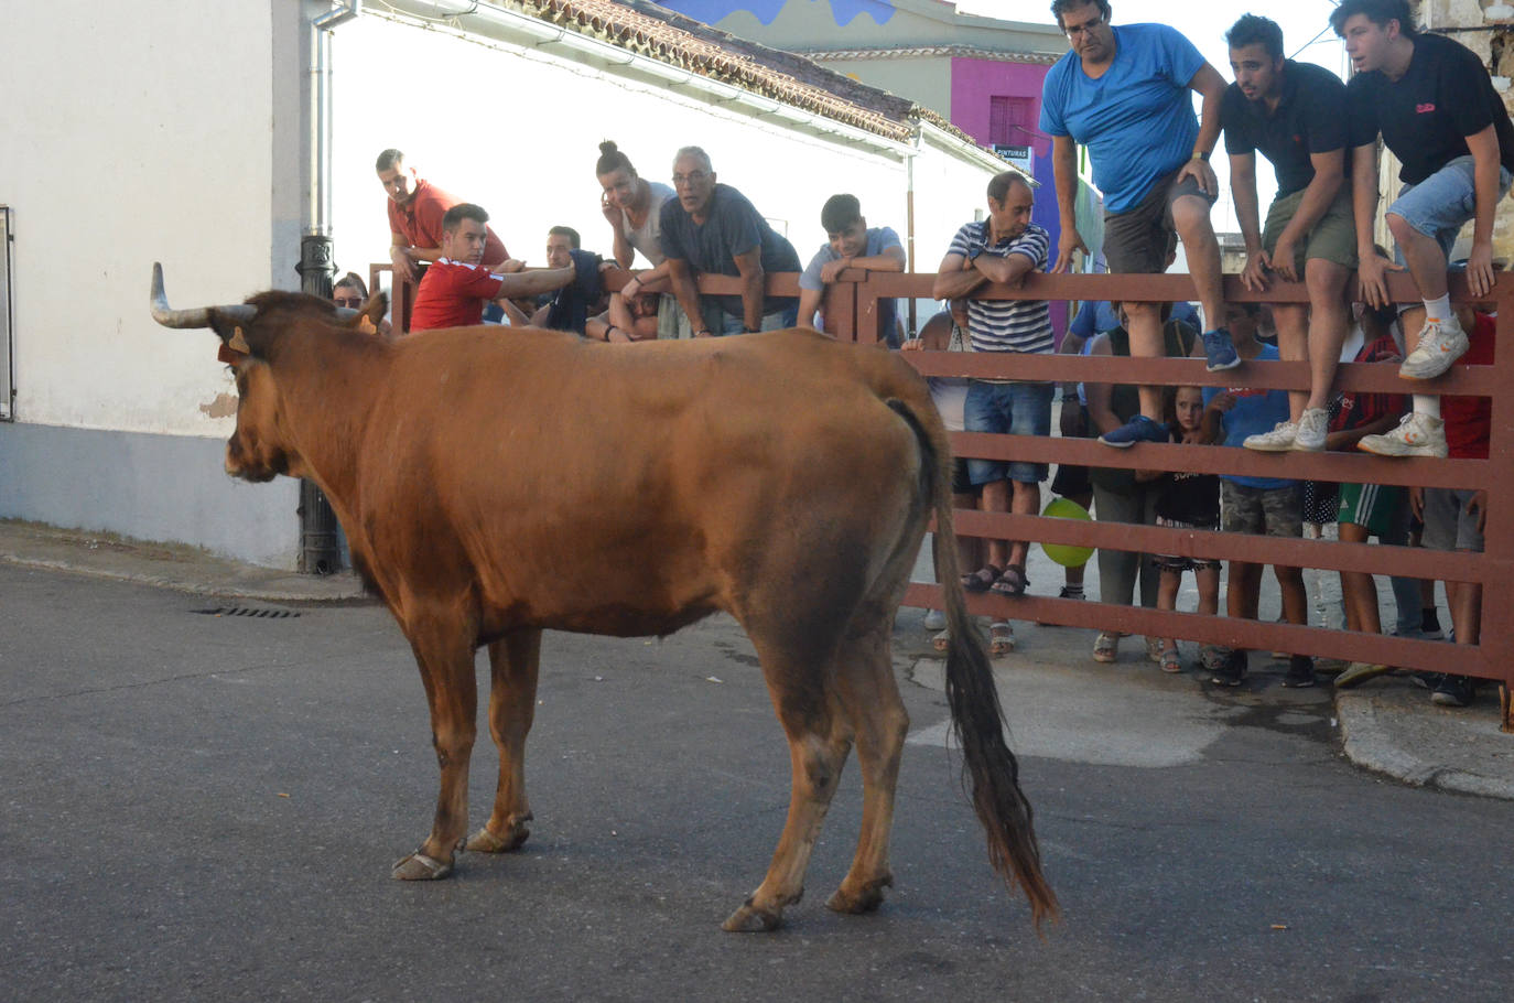
[[(866, 611), (864, 611), (866, 612)], [(889, 658), (889, 620), (874, 608), (858, 614), (836, 659), (836, 686), (851, 721), (861, 770), (861, 833), (851, 870), (827, 906), (837, 912), (872, 912), (883, 903), (883, 889), (893, 883), (889, 871), (889, 832), (893, 827), (893, 792), (910, 717), (899, 697)]]

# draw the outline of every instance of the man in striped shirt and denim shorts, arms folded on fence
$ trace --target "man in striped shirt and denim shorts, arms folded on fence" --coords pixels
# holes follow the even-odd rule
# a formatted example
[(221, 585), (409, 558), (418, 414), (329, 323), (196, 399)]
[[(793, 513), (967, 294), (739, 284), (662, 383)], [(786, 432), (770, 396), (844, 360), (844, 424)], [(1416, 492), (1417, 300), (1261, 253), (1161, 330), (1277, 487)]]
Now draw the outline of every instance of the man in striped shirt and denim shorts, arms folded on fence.
[[(937, 268), (931, 295), (954, 300), (970, 295), (984, 283), (1019, 285), (1031, 271), (1045, 271), (1051, 236), (1031, 223), (1036, 192), (1017, 171), (1004, 171), (989, 182), (989, 218), (967, 223), (952, 238)], [(967, 300), (967, 330), (974, 352), (1007, 356), (1051, 353), (1052, 332), (1046, 300)], [(970, 380), (964, 424), (967, 432), (1051, 435), (1052, 383), (993, 379)], [(1040, 511), (1040, 482), (1046, 464), (969, 459), (974, 486), (983, 488), (989, 512)], [(975, 592), (1020, 595), (1028, 583), (1022, 539), (990, 539), (987, 564), (963, 577)]]

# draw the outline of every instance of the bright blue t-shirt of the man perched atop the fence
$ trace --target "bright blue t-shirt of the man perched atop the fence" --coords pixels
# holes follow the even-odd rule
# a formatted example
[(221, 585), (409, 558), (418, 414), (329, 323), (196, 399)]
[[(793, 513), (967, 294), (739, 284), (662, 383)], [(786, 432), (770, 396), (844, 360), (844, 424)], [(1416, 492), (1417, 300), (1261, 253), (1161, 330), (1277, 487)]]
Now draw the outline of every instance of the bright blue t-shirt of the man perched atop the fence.
[(1046, 73), (1040, 130), (1089, 147), (1107, 212), (1126, 212), (1193, 156), (1199, 120), (1188, 80), (1204, 56), (1166, 24), (1114, 27), (1114, 61), (1098, 80), (1069, 52)]

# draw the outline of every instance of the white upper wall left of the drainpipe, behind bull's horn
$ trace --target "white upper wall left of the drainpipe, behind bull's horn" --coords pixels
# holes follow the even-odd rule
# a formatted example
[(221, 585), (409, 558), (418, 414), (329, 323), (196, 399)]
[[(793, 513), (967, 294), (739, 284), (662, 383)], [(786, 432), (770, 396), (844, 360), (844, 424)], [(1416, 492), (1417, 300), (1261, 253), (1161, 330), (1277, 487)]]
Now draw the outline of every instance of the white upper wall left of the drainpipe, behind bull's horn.
[(157, 327), (148, 277), (162, 259), (180, 305), (273, 282), (271, 21), (297, 6), (8, 5), (18, 420), (230, 432), (200, 409), (229, 388), (213, 336)]

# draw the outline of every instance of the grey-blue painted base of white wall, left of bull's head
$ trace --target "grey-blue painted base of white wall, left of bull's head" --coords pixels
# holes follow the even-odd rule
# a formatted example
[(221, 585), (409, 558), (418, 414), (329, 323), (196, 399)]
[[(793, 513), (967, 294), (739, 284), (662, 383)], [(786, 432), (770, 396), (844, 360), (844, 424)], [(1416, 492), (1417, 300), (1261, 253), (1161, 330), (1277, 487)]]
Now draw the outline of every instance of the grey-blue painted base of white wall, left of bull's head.
[(223, 439), (0, 423), (0, 518), (294, 570), (300, 482), (233, 480), (224, 455)]

